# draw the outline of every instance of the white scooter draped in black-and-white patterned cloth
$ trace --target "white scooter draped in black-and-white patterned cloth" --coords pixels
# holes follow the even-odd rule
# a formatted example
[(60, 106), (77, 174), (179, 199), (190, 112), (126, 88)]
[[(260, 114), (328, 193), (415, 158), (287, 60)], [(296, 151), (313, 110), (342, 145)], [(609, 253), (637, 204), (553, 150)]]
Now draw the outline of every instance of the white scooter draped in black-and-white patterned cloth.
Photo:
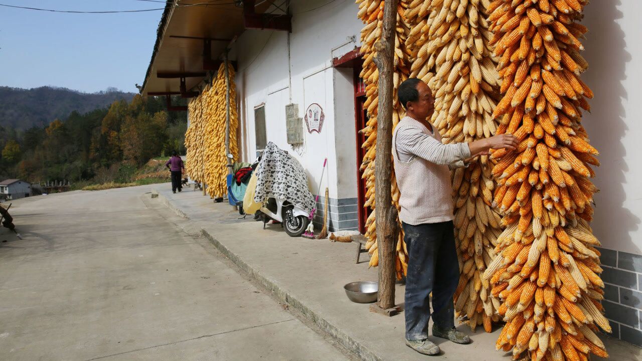
[(263, 228), (275, 220), (282, 223), (288, 235), (300, 236), (308, 227), (315, 199), (308, 190), (308, 177), (299, 161), (270, 142), (254, 175), (254, 202), (260, 204)]

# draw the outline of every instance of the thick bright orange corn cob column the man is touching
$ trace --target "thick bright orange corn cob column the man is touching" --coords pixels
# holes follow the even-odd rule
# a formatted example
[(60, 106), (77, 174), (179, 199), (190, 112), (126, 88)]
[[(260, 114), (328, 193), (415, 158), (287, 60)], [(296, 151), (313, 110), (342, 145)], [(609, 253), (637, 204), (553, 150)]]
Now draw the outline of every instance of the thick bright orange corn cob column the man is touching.
[[(494, 204), (507, 227), (498, 256), (483, 275), (502, 300), (507, 322), (497, 348), (514, 359), (587, 360), (607, 357), (596, 336), (602, 315), (600, 242), (589, 221), (598, 152), (580, 125), (593, 93), (580, 79), (578, 53), (587, 0), (495, 0), (489, 7), (495, 55), (501, 57), (503, 98), (497, 132), (512, 133), (516, 151), (498, 150)], [(525, 354), (526, 353), (526, 354)]]

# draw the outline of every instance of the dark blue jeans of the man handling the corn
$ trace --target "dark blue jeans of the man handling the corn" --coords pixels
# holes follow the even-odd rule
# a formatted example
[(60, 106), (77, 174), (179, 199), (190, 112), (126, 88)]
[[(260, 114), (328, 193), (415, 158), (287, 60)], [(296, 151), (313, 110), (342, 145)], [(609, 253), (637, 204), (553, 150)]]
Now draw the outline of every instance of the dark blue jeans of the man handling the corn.
[(433, 322), (440, 328), (455, 326), (453, 295), (459, 280), (453, 221), (403, 224), (408, 249), (406, 276), (406, 339), (428, 339), (429, 295), (433, 293)]

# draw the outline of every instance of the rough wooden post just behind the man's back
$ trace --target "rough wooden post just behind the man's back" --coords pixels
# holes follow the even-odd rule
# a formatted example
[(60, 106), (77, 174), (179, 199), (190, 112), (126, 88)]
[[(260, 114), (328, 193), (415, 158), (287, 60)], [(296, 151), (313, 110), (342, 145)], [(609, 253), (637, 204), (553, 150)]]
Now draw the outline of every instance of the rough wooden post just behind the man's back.
[(381, 40), (374, 44), (374, 58), (379, 71), (379, 112), (377, 114), (377, 148), (375, 159), (375, 211), (379, 252), (379, 299), (370, 310), (394, 315), (395, 308), (395, 243), (397, 209), (392, 206), (392, 112), (394, 89), (394, 46), (397, 27), (397, 0), (385, 0)]

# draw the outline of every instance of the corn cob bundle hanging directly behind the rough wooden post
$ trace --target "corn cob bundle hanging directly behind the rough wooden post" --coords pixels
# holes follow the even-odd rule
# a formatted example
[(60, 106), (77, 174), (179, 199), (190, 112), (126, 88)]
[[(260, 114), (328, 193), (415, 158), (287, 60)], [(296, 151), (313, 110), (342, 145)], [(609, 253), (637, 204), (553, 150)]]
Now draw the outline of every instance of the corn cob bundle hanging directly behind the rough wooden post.
[[(361, 53), (363, 54), (363, 70), (361, 71), (361, 78), (366, 85), (366, 96), (367, 101), (365, 102), (364, 108), (367, 109), (368, 121), (365, 129), (361, 130), (366, 136), (366, 141), (363, 143), (363, 148), (367, 149), (365, 156), (363, 157), (363, 164), (361, 164), (361, 170), (363, 170), (363, 179), (366, 179), (366, 202), (364, 206), (370, 207), (373, 211), (366, 221), (366, 234), (368, 242), (366, 243), (366, 248), (371, 256), (370, 266), (376, 267), (379, 265), (379, 254), (377, 252), (377, 233), (376, 233), (376, 222), (374, 221), (375, 212), (374, 212), (374, 159), (375, 159), (375, 148), (377, 142), (377, 104), (378, 104), (378, 79), (379, 71), (377, 71), (377, 66), (374, 63), (374, 58), (376, 56), (376, 51), (374, 49), (374, 44), (381, 39), (381, 31), (383, 29), (383, 0), (356, 0), (356, 3), (359, 4), (359, 13), (358, 17), (363, 21), (365, 26), (361, 30)], [(397, 3), (397, 28), (395, 30), (395, 49), (394, 49), (394, 111), (393, 114), (393, 125), (399, 123), (399, 119), (403, 118), (405, 110), (399, 104), (396, 96), (396, 89), (408, 78), (408, 73), (410, 73), (410, 63), (408, 62), (408, 53), (406, 52), (405, 42), (406, 35), (408, 34), (409, 28), (406, 20), (404, 19), (404, 12), (408, 7), (407, 1), (400, 0)], [(391, 160), (392, 162), (392, 160)], [(399, 189), (397, 188), (397, 181), (394, 177), (394, 172), (392, 173), (392, 202), (397, 210), (399, 210)], [(401, 222), (399, 222), (401, 228)], [(397, 272), (397, 278), (401, 278), (406, 273), (406, 268), (408, 267), (408, 253), (405, 249), (405, 244), (403, 242), (403, 234), (399, 233), (399, 242), (397, 242), (397, 258), (395, 261), (395, 269)]]

